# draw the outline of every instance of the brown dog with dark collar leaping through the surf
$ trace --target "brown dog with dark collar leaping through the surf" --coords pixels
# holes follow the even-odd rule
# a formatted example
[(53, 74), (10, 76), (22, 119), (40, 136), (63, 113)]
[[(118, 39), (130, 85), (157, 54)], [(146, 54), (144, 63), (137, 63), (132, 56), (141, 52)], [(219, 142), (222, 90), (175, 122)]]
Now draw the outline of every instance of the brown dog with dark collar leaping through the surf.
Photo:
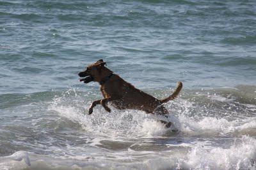
[[(164, 108), (163, 103), (175, 99), (182, 89), (182, 83), (179, 81), (177, 88), (173, 94), (166, 99), (159, 100), (139, 89), (136, 89), (130, 83), (120, 78), (117, 74), (113, 74), (113, 71), (109, 70), (104, 65), (102, 59), (98, 60), (94, 64), (86, 67), (85, 71), (80, 72), (80, 77), (86, 77), (80, 81), (89, 83), (90, 81), (97, 81), (100, 83), (100, 90), (104, 99), (93, 101), (89, 108), (89, 114), (92, 114), (93, 108), (97, 104), (101, 104), (104, 109), (108, 112), (111, 110), (108, 108), (107, 103), (111, 104), (120, 110), (132, 109), (132, 110), (143, 110), (146, 113), (155, 113), (159, 115), (167, 115), (168, 110)], [(166, 116), (167, 118), (167, 116)], [(166, 124), (166, 127), (170, 127), (171, 122), (161, 120), (162, 123)]]

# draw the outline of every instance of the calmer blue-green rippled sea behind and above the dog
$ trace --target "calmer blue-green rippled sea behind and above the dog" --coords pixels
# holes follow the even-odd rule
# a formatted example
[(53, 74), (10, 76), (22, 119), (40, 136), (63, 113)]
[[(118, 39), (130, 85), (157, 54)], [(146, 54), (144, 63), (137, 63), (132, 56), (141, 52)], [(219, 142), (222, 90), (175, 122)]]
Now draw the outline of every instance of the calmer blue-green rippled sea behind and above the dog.
[(140, 88), (256, 81), (255, 1), (1, 1), (1, 93), (74, 86), (105, 59)]

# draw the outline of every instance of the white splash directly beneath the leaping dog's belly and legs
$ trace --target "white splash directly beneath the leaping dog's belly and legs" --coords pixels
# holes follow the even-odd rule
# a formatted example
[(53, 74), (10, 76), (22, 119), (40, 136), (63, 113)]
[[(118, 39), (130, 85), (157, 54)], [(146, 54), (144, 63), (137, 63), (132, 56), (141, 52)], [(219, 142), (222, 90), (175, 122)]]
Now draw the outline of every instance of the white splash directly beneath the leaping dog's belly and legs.
[[(61, 97), (57, 97), (49, 106), (49, 110), (57, 111), (62, 117), (78, 122), (87, 132), (93, 132), (94, 134), (97, 132), (102, 136), (115, 138), (125, 134), (126, 137), (133, 138), (134, 134), (136, 134), (151, 138), (180, 128), (179, 119), (174, 115), (169, 115), (168, 118), (165, 118), (157, 115), (147, 115), (143, 111), (120, 111), (115, 108), (111, 108), (111, 113), (108, 113), (100, 106), (94, 108), (92, 115), (88, 115), (87, 110), (63, 104), (61, 100)], [(89, 107), (89, 104), (85, 107)], [(172, 127), (167, 129), (159, 120), (172, 122)]]

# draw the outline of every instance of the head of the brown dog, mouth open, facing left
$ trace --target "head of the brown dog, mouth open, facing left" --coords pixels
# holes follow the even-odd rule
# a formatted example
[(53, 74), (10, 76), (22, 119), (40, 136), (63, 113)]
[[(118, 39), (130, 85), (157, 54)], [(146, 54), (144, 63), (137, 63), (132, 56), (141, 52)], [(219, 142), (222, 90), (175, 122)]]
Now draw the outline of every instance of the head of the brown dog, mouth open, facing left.
[(80, 81), (84, 81), (84, 83), (89, 83), (90, 81), (101, 81), (104, 76), (112, 73), (112, 71), (104, 66), (105, 64), (106, 62), (100, 59), (97, 60), (97, 62), (95, 62), (94, 64), (90, 64), (89, 66), (87, 66), (84, 71), (81, 71), (78, 74), (80, 77), (84, 77), (80, 79)]

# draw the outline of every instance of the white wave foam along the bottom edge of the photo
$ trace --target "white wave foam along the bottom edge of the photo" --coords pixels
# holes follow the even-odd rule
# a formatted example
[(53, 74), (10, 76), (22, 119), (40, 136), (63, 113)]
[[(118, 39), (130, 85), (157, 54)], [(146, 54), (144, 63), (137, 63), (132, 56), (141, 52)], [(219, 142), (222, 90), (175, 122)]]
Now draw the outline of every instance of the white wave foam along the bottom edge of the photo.
[[(255, 169), (256, 139), (243, 136), (227, 147), (207, 147), (197, 144), (188, 152), (166, 152), (162, 157), (151, 155), (139, 162), (118, 162), (118, 160), (51, 158), (35, 153), (16, 152), (1, 157), (2, 169)], [(31, 164), (28, 164), (31, 159)], [(129, 157), (127, 157), (129, 160)]]

